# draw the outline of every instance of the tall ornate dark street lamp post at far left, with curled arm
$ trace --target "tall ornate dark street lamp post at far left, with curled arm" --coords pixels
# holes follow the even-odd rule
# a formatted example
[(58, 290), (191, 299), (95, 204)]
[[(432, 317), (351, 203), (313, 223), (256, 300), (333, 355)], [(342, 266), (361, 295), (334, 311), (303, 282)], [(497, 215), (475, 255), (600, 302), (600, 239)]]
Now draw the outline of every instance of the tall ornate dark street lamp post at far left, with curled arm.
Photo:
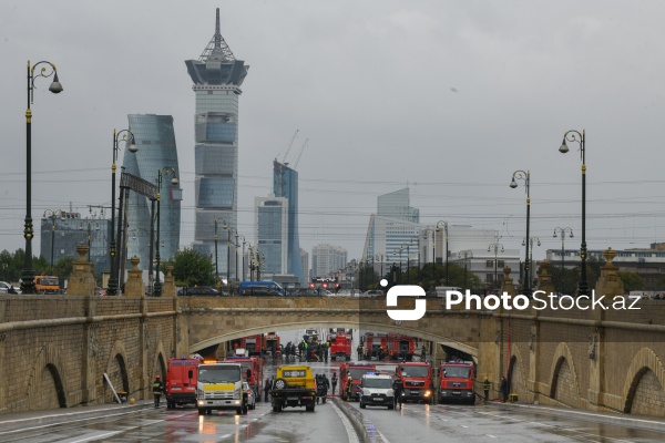
[[(34, 75), (34, 69), (40, 64), (44, 66)], [(50, 68), (50, 71), (47, 69)], [(48, 73), (47, 73), (48, 72)], [(28, 109), (25, 110), (25, 223), (23, 227), (23, 238), (25, 238), (25, 260), (21, 270), (21, 292), (34, 293), (34, 268), (32, 268), (32, 237), (34, 230), (32, 227), (32, 111), (30, 104), (33, 103), (34, 80), (43, 76), (50, 78), (53, 75), (53, 81), (49, 86), (49, 91), (54, 94), (62, 92), (62, 84), (58, 80), (58, 71), (51, 62), (41, 61), (30, 66), (28, 60)]]

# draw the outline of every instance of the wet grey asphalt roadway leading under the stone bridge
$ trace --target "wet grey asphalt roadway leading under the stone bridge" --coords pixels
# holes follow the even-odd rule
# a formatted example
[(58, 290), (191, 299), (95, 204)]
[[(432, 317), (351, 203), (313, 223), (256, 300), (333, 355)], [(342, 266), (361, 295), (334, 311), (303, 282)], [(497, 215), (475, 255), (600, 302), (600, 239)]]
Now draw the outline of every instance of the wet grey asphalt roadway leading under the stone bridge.
[[(341, 362), (310, 363), (315, 373), (338, 371)], [(385, 367), (393, 371), (395, 365)], [(275, 369), (266, 368), (265, 375)], [(338, 372), (339, 374), (339, 372)], [(663, 442), (665, 432), (631, 425), (598, 423), (590, 413), (560, 415), (546, 408), (515, 405), (475, 406), (407, 404), (403, 410), (348, 403), (365, 416), (375, 442)], [(624, 415), (625, 416), (625, 415)], [(661, 426), (665, 429), (665, 426)], [(233, 412), (198, 415), (193, 406), (166, 410), (164, 406), (132, 411), (114, 416), (72, 421), (65, 424), (0, 430), (2, 442), (252, 442), (252, 443), (346, 443), (358, 439), (339, 408), (327, 402), (316, 411), (287, 408), (272, 411), (258, 402), (246, 416)]]

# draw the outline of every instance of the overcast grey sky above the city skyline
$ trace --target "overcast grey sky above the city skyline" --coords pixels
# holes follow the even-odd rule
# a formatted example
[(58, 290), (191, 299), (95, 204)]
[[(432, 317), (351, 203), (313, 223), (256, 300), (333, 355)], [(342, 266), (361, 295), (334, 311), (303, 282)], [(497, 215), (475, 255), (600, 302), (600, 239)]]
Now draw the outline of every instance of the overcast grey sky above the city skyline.
[[(24, 246), (27, 61), (57, 64), (64, 92), (37, 81), (33, 218), (111, 204), (113, 128), (131, 113), (174, 117), (184, 188), (181, 244), (194, 237), (194, 93), (184, 61), (214, 34), (250, 65), (239, 110), (238, 230), (272, 162), (300, 177), (300, 243), (362, 254), (376, 197), (405, 186), (421, 222), (581, 237), (581, 159), (557, 152), (586, 130), (587, 243), (663, 239), (665, 3), (662, 1), (14, 1), (0, 2), (0, 249)], [(122, 153), (121, 153), (122, 155)], [(291, 163), (293, 164), (293, 163)], [(504, 226), (507, 218), (508, 229)], [(511, 237), (512, 236), (512, 237)], [(39, 234), (34, 251), (39, 254)]]

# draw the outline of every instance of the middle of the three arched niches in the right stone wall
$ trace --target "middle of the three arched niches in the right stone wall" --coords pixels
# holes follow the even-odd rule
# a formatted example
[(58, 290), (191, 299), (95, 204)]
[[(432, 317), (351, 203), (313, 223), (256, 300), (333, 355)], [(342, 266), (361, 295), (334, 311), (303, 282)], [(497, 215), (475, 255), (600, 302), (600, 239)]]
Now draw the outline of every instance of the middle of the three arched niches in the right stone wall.
[(567, 343), (560, 342), (552, 358), (550, 370), (550, 398), (569, 406), (580, 408), (580, 382)]

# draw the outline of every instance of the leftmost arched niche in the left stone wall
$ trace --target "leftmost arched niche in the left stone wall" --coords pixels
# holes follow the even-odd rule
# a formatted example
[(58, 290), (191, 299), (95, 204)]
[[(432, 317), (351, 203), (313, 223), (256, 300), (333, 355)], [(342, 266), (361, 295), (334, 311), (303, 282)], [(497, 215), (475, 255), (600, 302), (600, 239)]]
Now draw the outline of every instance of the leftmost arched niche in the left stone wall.
[(64, 364), (58, 349), (44, 344), (30, 371), (28, 379), (29, 409), (68, 408), (66, 394), (70, 392), (66, 380), (63, 379)]

